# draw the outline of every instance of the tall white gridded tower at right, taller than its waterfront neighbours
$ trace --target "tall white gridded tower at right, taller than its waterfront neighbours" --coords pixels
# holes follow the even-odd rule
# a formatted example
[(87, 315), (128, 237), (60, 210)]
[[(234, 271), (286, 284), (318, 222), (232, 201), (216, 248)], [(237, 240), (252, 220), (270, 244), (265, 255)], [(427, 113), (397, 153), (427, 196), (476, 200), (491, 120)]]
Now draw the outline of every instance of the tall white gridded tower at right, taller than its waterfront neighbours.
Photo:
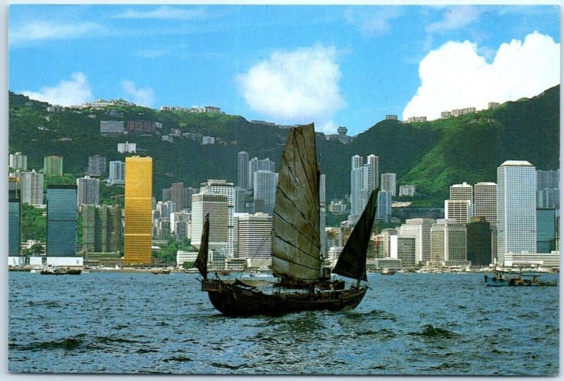
[(498, 255), (537, 251), (537, 173), (528, 161), (505, 161), (497, 170)]

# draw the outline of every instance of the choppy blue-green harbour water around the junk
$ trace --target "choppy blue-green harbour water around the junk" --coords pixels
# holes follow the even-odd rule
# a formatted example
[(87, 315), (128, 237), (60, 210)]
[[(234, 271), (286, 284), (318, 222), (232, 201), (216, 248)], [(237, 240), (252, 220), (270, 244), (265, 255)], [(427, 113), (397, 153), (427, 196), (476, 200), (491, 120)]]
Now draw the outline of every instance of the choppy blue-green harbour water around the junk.
[(369, 274), (372, 289), (353, 311), (226, 318), (196, 275), (10, 273), (8, 370), (556, 375), (559, 287), (483, 280)]

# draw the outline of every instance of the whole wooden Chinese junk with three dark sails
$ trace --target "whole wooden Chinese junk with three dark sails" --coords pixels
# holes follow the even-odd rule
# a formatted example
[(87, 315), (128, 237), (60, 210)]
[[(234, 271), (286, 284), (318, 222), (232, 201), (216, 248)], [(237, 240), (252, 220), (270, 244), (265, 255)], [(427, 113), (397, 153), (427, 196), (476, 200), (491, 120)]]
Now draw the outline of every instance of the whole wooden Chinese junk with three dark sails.
[(314, 127), (293, 127), (283, 151), (272, 226), (272, 273), (278, 282), (257, 287), (244, 280), (207, 279), (209, 218), (204, 220), (202, 243), (195, 267), (202, 274), (202, 291), (221, 313), (228, 316), (280, 315), (297, 311), (340, 311), (355, 308), (364, 294), (367, 247), (376, 213), (376, 195), (350, 235), (333, 273), (356, 280), (343, 287), (331, 281), (321, 267), (319, 233), (319, 170)]

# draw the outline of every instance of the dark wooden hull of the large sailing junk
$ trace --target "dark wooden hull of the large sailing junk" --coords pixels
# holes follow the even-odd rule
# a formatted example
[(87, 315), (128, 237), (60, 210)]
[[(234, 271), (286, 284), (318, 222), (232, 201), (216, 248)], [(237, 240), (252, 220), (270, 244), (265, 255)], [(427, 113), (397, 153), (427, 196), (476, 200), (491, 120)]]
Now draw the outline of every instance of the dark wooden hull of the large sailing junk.
[(353, 309), (364, 298), (367, 287), (333, 292), (307, 294), (301, 292), (274, 292), (265, 294), (252, 287), (228, 284), (221, 280), (204, 280), (202, 291), (207, 291), (212, 305), (227, 316), (269, 315), (300, 311), (341, 311)]

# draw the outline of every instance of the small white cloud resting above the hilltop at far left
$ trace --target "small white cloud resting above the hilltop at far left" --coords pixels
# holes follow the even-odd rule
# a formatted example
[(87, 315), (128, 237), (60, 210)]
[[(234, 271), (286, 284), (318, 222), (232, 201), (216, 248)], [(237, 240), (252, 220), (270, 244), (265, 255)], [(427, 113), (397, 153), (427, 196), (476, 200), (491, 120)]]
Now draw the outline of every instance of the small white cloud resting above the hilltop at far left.
[(92, 101), (92, 91), (83, 73), (73, 73), (71, 80), (61, 80), (55, 87), (42, 87), (39, 92), (22, 91), (30, 99), (60, 106), (71, 106)]

